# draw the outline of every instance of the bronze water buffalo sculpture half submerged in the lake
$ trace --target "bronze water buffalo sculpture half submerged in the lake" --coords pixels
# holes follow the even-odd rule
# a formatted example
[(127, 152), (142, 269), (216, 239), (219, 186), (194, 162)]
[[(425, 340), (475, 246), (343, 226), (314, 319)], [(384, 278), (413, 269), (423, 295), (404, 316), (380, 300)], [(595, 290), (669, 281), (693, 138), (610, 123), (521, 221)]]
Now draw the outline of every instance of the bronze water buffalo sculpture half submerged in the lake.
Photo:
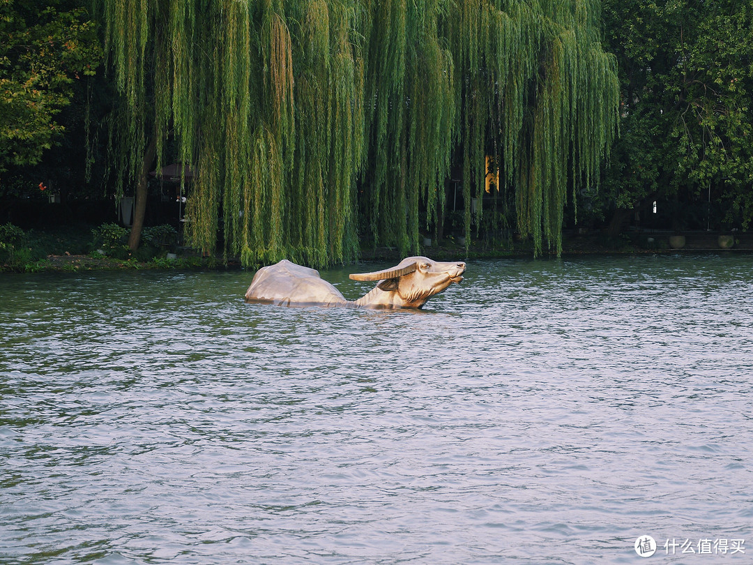
[(245, 293), (246, 302), (280, 306), (346, 306), (358, 308), (420, 308), (429, 298), (462, 281), (465, 263), (439, 263), (409, 257), (390, 269), (350, 275), (353, 280), (379, 281), (356, 301), (347, 301), (319, 271), (283, 259), (262, 267)]

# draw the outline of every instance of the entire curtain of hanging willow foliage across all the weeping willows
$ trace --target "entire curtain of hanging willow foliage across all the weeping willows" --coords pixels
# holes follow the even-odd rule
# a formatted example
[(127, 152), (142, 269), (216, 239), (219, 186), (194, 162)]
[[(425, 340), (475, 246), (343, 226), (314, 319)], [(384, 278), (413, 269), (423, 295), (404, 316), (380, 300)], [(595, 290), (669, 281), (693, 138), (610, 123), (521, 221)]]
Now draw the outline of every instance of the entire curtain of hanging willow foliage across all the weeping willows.
[(211, 251), (221, 233), (247, 265), (349, 261), (359, 233), (417, 252), (451, 159), (470, 203), (487, 155), (517, 229), (559, 252), (568, 190), (596, 181), (615, 133), (598, 0), (101, 5), (120, 173), (172, 136), (196, 175), (187, 237)]

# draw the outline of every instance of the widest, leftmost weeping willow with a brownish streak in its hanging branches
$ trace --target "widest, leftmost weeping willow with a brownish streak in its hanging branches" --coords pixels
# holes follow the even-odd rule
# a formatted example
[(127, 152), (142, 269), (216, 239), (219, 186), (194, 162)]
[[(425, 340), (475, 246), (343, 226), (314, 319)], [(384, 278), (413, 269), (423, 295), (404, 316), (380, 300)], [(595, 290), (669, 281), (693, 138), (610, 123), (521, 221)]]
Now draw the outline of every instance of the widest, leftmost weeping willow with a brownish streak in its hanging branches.
[[(212, 251), (222, 234), (226, 254), (244, 264), (355, 257), (364, 136), (357, 8), (105, 0), (123, 182), (144, 184), (151, 148), (159, 166), (174, 139), (178, 160), (194, 170), (186, 226), (194, 246)], [(137, 215), (138, 206), (137, 194)]]

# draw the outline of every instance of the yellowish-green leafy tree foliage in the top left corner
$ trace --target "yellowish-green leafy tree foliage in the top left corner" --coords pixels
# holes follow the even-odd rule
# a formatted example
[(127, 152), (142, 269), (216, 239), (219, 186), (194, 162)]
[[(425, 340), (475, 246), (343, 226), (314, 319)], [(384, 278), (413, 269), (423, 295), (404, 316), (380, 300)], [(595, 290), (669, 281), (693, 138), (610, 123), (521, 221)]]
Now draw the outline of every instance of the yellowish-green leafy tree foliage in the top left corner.
[(38, 163), (59, 141), (56, 115), (101, 56), (81, 2), (0, 1), (0, 171)]

